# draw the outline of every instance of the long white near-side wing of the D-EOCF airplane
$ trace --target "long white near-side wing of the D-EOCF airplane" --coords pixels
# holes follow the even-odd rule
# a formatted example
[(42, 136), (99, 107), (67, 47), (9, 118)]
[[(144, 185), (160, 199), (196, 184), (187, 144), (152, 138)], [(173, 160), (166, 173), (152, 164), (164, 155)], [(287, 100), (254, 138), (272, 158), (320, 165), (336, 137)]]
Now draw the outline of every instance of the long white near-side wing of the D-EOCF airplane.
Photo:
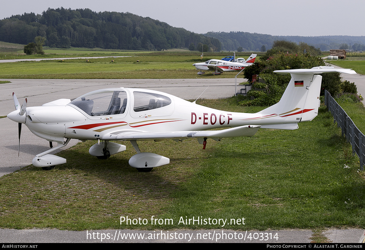
[(121, 131), (103, 136), (101, 140), (158, 140), (158, 139), (182, 139), (182, 138), (221, 138), (254, 136), (261, 126), (245, 125), (223, 130), (204, 130), (204, 131), (176, 131), (176, 132), (139, 132)]

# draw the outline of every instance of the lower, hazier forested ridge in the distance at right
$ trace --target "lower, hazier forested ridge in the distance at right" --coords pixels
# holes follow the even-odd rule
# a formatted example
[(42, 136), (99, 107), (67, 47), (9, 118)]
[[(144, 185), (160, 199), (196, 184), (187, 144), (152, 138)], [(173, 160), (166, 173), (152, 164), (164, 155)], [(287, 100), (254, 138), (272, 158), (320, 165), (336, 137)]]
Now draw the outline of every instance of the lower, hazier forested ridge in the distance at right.
[(290, 42), (304, 42), (322, 51), (338, 49), (342, 44), (347, 44), (350, 50), (365, 50), (365, 36), (272, 36), (249, 32), (208, 32), (204, 34), (217, 38), (222, 42), (222, 50), (260, 51), (262, 46), (270, 49), (275, 40)]

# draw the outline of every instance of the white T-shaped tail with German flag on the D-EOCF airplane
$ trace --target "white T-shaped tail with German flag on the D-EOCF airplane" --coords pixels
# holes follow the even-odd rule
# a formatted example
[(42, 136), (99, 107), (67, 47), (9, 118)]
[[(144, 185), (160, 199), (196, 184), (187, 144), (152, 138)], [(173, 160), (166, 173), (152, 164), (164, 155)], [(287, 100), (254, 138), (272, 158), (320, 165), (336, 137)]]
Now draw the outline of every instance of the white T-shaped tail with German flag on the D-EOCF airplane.
[(319, 93), (322, 83), (322, 76), (316, 74), (335, 72), (356, 74), (351, 69), (334, 69), (326, 66), (274, 71), (277, 74), (291, 74), (292, 78), (280, 101), (258, 112), (263, 118), (270, 117), (270, 124), (261, 127), (296, 129), (298, 122), (313, 120), (318, 114)]

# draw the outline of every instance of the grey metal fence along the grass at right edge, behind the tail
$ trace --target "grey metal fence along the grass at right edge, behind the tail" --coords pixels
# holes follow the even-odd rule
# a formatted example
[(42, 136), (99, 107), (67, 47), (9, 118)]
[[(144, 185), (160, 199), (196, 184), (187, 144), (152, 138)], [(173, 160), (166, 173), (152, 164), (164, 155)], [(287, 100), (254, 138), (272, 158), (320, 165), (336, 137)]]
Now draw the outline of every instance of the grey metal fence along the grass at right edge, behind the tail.
[(364, 170), (364, 134), (361, 133), (345, 110), (338, 105), (327, 90), (324, 91), (324, 104), (327, 106), (328, 111), (331, 112), (334, 121), (337, 122), (337, 126), (341, 128), (342, 136), (345, 136), (347, 141), (351, 143), (352, 152), (356, 153), (360, 158), (360, 169)]

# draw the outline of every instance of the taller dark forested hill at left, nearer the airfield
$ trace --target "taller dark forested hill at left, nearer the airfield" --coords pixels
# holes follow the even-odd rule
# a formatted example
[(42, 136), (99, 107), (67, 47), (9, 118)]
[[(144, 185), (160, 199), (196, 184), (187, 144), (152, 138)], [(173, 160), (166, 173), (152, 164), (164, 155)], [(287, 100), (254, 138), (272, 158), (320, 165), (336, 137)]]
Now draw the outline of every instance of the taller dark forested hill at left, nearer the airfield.
[(28, 44), (36, 36), (44, 36), (46, 46), (59, 48), (166, 50), (193, 46), (199, 49), (205, 44), (210, 50), (221, 50), (216, 38), (128, 12), (49, 8), (42, 15), (31, 12), (0, 20), (1, 41)]

